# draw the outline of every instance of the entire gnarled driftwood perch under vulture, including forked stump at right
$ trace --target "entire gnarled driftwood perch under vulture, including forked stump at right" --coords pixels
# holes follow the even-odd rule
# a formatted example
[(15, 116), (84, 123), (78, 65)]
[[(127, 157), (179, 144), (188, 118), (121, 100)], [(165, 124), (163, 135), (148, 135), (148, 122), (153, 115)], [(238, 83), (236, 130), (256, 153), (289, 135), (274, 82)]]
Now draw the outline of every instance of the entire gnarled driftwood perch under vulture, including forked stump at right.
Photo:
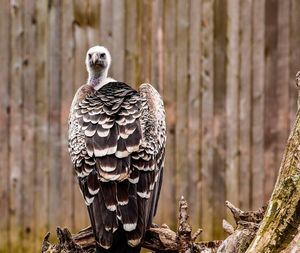
[[(182, 198), (179, 203), (179, 220), (176, 232), (167, 225), (153, 226), (146, 232), (142, 246), (153, 252), (201, 252), (201, 253), (223, 253), (223, 252), (245, 252), (259, 227), (263, 218), (265, 208), (258, 211), (242, 211), (226, 202), (231, 210), (237, 227), (234, 229), (228, 222), (224, 222), (225, 230), (231, 234), (224, 242), (208, 241), (197, 242), (202, 230), (198, 229), (192, 234), (192, 227), (188, 223), (188, 205)], [(90, 253), (94, 251), (96, 242), (91, 227), (79, 231), (75, 235), (67, 229), (57, 228), (58, 244), (49, 242), (49, 233), (46, 235), (42, 253)], [(220, 246), (221, 245), (221, 246)]]

